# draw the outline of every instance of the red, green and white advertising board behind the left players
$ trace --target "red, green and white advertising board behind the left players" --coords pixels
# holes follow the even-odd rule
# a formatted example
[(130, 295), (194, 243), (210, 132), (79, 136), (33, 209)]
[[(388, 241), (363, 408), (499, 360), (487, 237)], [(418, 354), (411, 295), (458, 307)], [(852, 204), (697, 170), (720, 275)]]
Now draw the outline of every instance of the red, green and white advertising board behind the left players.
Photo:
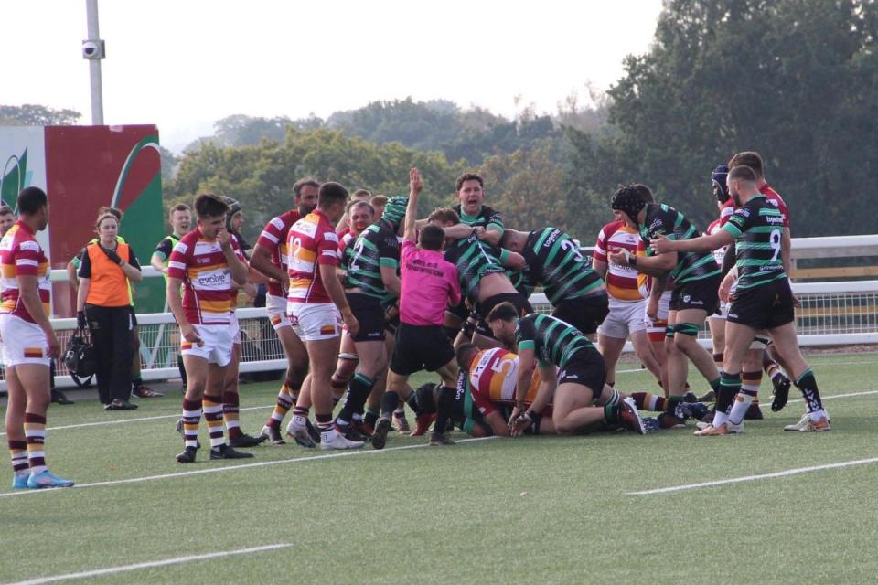
[[(48, 229), (38, 234), (53, 269), (64, 269), (95, 236), (98, 208), (119, 207), (120, 234), (142, 265), (164, 237), (161, 155), (153, 125), (0, 128), (0, 196), (16, 207), (16, 195), (38, 186), (48, 195)], [(148, 278), (134, 290), (138, 313), (165, 306), (164, 280)], [(56, 282), (52, 313), (75, 312), (70, 285)]]

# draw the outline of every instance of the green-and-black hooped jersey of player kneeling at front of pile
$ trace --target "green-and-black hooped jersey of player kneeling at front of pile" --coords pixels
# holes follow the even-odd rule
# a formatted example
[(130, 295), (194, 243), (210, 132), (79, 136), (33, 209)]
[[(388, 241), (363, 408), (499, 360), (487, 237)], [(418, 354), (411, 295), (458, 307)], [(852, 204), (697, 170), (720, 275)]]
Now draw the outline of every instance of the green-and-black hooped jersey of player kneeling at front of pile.
[(541, 365), (562, 369), (576, 352), (594, 349), (588, 337), (576, 327), (548, 314), (531, 313), (521, 317), (515, 327), (515, 341), (519, 351), (532, 349)]

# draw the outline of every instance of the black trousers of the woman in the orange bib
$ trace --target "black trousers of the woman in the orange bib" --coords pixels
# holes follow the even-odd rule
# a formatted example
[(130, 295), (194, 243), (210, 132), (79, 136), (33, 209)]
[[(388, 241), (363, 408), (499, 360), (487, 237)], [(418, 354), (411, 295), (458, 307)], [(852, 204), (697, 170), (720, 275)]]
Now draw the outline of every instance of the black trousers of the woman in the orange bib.
[(85, 305), (91, 344), (98, 361), (98, 397), (103, 404), (131, 398), (131, 360), (134, 342), (130, 306)]

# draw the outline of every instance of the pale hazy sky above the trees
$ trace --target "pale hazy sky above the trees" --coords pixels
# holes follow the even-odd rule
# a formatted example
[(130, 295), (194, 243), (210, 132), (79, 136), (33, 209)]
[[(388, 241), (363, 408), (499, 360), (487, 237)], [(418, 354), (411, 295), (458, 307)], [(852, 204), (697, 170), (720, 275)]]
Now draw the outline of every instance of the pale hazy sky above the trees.
[[(0, 103), (91, 122), (85, 0), (5, 2)], [(233, 113), (327, 117), (412, 96), (506, 115), (606, 89), (648, 50), (661, 0), (99, 0), (104, 122), (179, 149)], [(583, 98), (585, 100), (585, 98)]]

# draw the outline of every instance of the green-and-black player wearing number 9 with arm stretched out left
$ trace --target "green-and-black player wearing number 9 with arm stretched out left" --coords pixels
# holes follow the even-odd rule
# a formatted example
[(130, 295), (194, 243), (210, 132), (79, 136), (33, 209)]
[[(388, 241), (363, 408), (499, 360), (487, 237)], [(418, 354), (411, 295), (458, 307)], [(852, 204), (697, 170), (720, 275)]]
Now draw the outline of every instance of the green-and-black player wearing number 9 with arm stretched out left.
[(808, 409), (798, 424), (788, 425), (785, 430), (830, 430), (817, 381), (798, 348), (793, 314), (795, 297), (790, 289), (782, 250), (785, 218), (781, 209), (759, 191), (757, 180), (758, 176), (749, 166), (732, 166), (726, 181), (729, 194), (739, 208), (721, 231), (687, 240), (672, 240), (657, 234), (652, 242), (659, 257), (675, 252), (716, 250), (733, 240), (736, 244), (738, 283), (726, 321), (723, 381), (712, 424), (696, 431), (699, 436), (744, 431), (745, 409), (733, 409), (733, 401), (741, 389), (744, 355), (761, 329), (767, 330), (775, 342), (776, 351), (791, 368), (790, 373), (795, 377)]

